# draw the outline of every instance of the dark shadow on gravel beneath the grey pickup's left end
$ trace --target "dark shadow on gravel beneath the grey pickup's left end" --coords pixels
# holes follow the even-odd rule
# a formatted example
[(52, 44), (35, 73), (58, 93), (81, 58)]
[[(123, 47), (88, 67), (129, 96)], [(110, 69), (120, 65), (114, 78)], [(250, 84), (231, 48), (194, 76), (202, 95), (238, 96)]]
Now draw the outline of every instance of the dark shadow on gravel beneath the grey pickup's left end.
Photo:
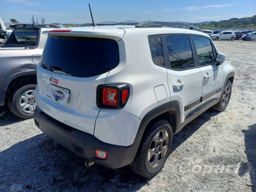
[(7, 107), (0, 107), (0, 126), (6, 126), (24, 120), (25, 119), (19, 118), (12, 114)]

